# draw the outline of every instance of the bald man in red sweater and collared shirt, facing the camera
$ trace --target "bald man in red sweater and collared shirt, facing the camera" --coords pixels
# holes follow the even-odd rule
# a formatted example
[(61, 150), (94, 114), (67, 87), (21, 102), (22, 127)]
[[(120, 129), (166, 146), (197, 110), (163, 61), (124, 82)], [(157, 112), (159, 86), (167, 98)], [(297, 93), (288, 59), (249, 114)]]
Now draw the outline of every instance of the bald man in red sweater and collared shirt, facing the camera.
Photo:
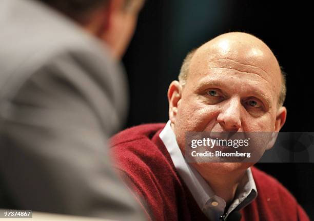
[[(309, 220), (250, 163), (189, 163), (186, 132), (278, 132), (285, 77), (260, 39), (227, 33), (190, 52), (168, 90), (169, 121), (113, 137), (116, 167), (151, 220)], [(274, 136), (276, 140), (276, 136)]]

